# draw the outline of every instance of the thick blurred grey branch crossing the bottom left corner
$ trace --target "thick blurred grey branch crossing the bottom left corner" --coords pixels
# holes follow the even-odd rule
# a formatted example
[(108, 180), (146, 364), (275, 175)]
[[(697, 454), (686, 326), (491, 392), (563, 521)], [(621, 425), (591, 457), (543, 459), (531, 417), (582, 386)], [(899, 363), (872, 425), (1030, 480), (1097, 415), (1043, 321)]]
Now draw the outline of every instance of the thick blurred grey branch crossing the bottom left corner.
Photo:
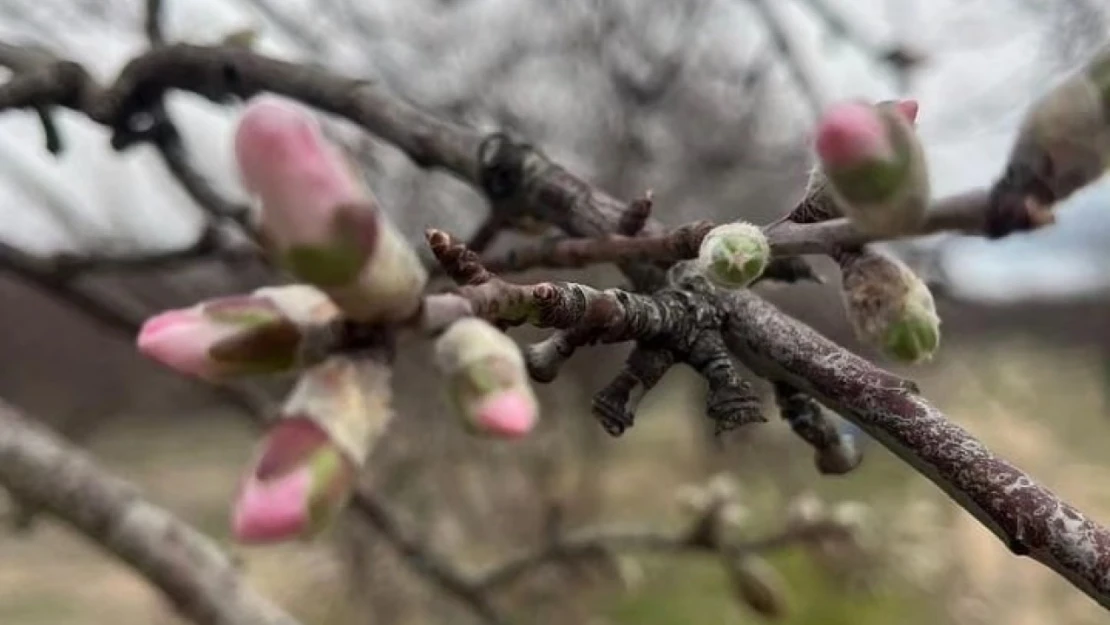
[(242, 582), (211, 538), (2, 402), (0, 483), (127, 562), (198, 624), (296, 625)]

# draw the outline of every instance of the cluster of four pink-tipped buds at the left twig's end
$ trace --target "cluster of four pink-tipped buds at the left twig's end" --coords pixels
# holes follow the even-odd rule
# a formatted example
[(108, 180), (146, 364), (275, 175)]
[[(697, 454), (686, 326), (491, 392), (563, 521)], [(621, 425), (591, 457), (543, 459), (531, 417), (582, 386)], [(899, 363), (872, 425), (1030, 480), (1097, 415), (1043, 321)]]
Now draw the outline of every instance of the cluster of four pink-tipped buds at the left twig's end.
[[(232, 533), (244, 543), (309, 538), (343, 508), (392, 415), (389, 366), (339, 353), (337, 331), (412, 319), (427, 275), (307, 110), (255, 99), (240, 120), (235, 155), (261, 206), (266, 251), (302, 284), (163, 312), (143, 324), (138, 347), (211, 382), (300, 372), (242, 482)], [(532, 429), (536, 400), (512, 340), (470, 320), (444, 335), (440, 351), (470, 423), (502, 436)]]

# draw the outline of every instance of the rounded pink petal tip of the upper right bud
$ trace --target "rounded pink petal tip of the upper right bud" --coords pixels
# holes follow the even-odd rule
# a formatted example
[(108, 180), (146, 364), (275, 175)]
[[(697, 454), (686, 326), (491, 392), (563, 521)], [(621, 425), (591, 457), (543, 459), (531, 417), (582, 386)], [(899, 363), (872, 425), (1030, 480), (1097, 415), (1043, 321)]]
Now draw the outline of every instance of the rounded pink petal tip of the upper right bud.
[(833, 107), (817, 130), (817, 154), (823, 164), (848, 168), (890, 152), (887, 129), (875, 109), (860, 102)]

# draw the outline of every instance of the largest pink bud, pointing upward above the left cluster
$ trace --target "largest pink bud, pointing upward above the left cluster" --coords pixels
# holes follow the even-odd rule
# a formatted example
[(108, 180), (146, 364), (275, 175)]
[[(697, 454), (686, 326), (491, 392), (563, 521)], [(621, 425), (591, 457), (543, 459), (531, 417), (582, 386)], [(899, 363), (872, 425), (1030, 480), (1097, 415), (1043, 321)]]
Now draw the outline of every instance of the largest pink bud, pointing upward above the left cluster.
[(286, 271), (356, 321), (401, 321), (417, 311), (427, 281), (420, 258), (307, 110), (252, 100), (235, 157), (260, 201), (266, 248)]

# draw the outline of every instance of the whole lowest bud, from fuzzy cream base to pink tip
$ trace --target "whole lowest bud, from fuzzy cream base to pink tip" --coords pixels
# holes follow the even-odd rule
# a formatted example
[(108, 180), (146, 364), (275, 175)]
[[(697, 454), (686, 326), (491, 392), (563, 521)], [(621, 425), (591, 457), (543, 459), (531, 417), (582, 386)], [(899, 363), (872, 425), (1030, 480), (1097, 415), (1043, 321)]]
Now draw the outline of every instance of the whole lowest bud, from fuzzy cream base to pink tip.
[(273, 543), (325, 530), (392, 417), (390, 399), (381, 363), (333, 356), (307, 370), (240, 487), (235, 540)]

